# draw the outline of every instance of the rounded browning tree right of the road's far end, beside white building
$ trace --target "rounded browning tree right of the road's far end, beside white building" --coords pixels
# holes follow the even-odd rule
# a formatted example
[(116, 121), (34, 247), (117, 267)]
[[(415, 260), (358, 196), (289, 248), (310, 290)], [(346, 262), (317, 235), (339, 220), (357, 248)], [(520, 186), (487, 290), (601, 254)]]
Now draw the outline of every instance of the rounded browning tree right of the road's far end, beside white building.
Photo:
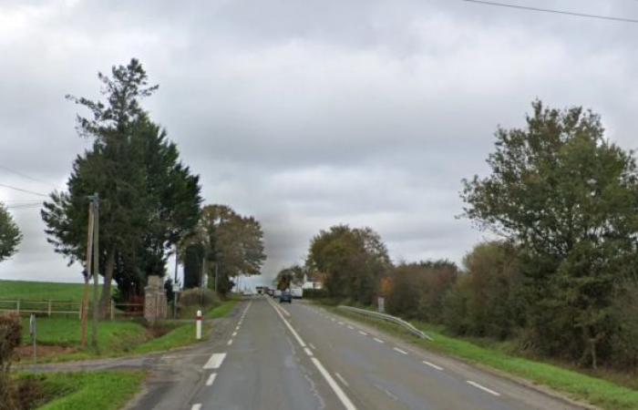
[(325, 272), (324, 287), (336, 299), (369, 304), (391, 268), (386, 245), (370, 228), (335, 225), (313, 238), (306, 260), (311, 271)]

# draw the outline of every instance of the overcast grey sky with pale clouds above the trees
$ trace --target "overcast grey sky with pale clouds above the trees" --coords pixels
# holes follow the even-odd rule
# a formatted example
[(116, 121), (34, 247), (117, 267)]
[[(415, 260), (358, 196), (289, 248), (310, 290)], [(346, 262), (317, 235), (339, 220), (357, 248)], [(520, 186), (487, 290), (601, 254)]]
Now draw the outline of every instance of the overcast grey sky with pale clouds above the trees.
[[(635, 0), (504, 1), (638, 18)], [(638, 148), (636, 24), (460, 0), (0, 0), (0, 166), (24, 174), (0, 183), (64, 188), (88, 144), (64, 96), (98, 97), (97, 72), (133, 56), (205, 201), (262, 222), (264, 282), (336, 223), (378, 231), (394, 261), (460, 261), (486, 236), (455, 219), (460, 179), (486, 174), (494, 130), (536, 97)], [(25, 238), (0, 279), (81, 279), (39, 210), (12, 213)]]

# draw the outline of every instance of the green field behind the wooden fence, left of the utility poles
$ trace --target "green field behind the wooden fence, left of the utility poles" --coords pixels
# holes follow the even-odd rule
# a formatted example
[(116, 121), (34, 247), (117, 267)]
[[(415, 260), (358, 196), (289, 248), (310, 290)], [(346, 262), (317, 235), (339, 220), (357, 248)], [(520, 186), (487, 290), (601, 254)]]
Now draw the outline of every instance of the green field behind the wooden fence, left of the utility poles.
[(82, 283), (0, 281), (0, 301), (26, 299), (80, 302), (83, 291)]

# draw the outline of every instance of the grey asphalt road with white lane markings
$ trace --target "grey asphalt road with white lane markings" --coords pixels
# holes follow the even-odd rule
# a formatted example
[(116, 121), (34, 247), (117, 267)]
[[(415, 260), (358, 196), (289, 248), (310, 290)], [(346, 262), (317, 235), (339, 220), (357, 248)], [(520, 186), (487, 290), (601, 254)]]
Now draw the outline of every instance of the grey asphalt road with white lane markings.
[[(160, 389), (161, 394), (147, 395), (134, 407), (581, 408), (468, 364), (417, 350), (305, 302), (281, 306), (257, 297), (242, 303), (227, 327), (201, 352), (184, 358), (191, 368), (198, 366), (198, 377), (187, 382), (173, 378), (172, 384)], [(180, 362), (179, 354), (176, 357)], [(178, 383), (182, 387), (175, 387)], [(184, 400), (183, 405), (176, 405), (179, 400)]]

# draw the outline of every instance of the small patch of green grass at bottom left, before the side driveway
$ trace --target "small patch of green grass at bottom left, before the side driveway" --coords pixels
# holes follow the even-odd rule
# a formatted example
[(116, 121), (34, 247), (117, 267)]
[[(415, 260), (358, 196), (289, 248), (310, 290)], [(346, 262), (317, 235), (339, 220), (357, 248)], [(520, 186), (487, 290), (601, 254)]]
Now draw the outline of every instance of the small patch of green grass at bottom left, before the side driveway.
[(42, 380), (44, 393), (55, 398), (38, 408), (115, 410), (139, 391), (144, 377), (142, 372), (46, 374)]

